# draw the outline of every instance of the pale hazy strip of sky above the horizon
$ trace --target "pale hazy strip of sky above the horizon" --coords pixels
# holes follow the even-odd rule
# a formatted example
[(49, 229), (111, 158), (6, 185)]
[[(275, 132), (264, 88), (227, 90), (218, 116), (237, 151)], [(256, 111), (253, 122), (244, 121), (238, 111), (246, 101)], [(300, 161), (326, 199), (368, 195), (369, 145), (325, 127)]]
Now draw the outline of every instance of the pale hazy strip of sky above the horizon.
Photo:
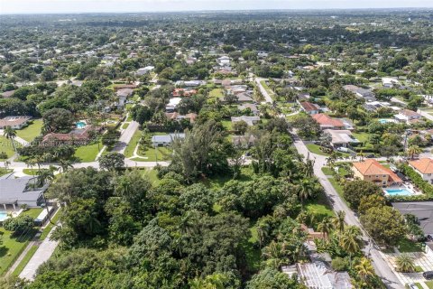
[(433, 0), (0, 0), (0, 14), (433, 7)]

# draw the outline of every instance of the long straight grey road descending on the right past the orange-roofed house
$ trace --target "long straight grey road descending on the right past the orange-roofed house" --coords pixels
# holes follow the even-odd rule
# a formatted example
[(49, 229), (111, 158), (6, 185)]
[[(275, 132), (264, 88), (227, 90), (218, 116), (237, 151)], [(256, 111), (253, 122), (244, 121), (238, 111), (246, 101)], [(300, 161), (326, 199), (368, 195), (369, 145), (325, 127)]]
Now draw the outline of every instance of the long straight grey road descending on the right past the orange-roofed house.
[[(322, 167), (326, 166), (327, 157), (323, 155), (309, 153), (309, 149), (307, 148), (307, 146), (296, 136), (295, 136), (294, 144), (299, 154), (303, 154), (304, 157), (306, 157), (309, 154), (310, 158), (315, 159), (314, 174), (318, 177), (319, 182), (322, 184), (323, 188), (325, 189), (327, 193), (327, 197), (332, 203), (333, 209), (335, 211), (338, 210), (345, 211), (345, 222), (349, 225), (354, 225), (358, 228), (362, 228), (359, 220), (355, 217), (354, 212), (347, 207), (344, 200), (340, 198), (340, 196), (332, 186), (331, 182), (329, 182), (329, 180), (327, 179), (325, 173), (322, 172)], [(364, 253), (366, 256), (370, 256), (372, 258), (374, 270), (376, 274), (381, 277), (382, 282), (388, 288), (392, 288), (392, 289), (404, 288), (404, 286), (401, 285), (397, 276), (392, 272), (392, 269), (390, 268), (388, 263), (384, 259), (382, 259), (382, 256), (380, 255), (379, 251), (376, 248), (374, 248), (372, 245), (370, 245), (369, 238), (366, 236), (364, 231), (363, 234), (364, 234), (363, 237), (364, 241), (369, 243), (369, 245), (365, 247)]]

